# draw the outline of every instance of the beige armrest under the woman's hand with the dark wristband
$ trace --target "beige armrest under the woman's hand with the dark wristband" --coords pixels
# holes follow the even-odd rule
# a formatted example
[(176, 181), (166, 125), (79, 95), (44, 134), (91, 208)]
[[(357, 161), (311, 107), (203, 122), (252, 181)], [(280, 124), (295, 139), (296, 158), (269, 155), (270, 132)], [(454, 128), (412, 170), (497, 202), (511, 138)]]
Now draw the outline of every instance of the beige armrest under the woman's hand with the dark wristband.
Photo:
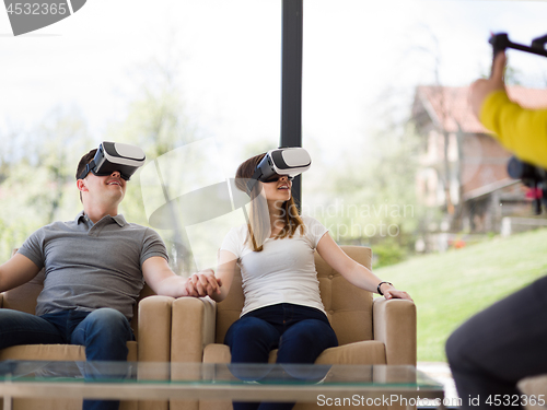
[(416, 366), (416, 305), (377, 297), (372, 304), (374, 340), (385, 344), (386, 364)]

